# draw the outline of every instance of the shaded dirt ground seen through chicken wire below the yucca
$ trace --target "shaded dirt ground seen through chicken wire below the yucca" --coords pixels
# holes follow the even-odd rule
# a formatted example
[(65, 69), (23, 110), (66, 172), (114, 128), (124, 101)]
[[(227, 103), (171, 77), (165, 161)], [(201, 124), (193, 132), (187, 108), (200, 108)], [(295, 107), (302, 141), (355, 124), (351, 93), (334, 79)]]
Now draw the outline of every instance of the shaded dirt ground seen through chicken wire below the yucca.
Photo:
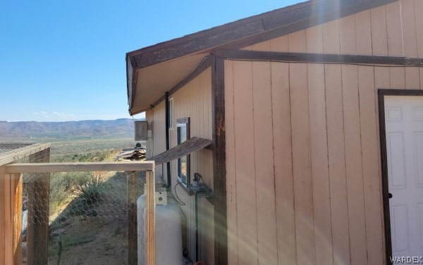
[(51, 233), (63, 233), (49, 240), (49, 264), (128, 264), (125, 178), (114, 176), (107, 182), (106, 194), (98, 203), (85, 208), (85, 214), (72, 216), (64, 210), (56, 218), (60, 221), (51, 226)]

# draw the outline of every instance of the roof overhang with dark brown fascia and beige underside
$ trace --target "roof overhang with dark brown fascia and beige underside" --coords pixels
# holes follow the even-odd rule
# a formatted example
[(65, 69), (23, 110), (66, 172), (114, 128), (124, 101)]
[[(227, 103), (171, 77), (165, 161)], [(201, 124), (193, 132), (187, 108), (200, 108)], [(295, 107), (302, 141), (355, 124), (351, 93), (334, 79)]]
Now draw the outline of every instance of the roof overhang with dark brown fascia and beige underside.
[(129, 112), (147, 110), (214, 49), (242, 49), (394, 1), (311, 0), (131, 51), (126, 54)]

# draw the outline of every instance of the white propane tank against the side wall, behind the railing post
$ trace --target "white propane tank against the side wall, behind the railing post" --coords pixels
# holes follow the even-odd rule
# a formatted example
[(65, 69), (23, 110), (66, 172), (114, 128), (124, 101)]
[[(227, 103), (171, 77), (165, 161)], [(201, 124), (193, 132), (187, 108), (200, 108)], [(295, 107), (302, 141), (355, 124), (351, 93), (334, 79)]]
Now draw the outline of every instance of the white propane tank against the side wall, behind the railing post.
[[(182, 265), (182, 228), (176, 202), (156, 205), (156, 264)], [(138, 265), (147, 261), (146, 198), (137, 200)]]

